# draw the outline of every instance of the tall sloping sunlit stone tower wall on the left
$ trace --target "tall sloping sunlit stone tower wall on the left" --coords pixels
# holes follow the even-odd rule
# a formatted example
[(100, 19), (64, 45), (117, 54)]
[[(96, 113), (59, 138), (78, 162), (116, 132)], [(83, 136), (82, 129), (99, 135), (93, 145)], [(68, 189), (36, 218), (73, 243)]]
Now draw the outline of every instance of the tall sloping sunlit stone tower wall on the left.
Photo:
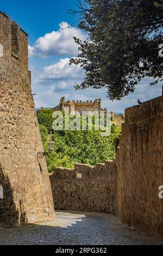
[[(28, 71), (28, 37), (0, 12), (0, 225), (55, 217)], [(2, 191), (2, 190), (1, 190)]]

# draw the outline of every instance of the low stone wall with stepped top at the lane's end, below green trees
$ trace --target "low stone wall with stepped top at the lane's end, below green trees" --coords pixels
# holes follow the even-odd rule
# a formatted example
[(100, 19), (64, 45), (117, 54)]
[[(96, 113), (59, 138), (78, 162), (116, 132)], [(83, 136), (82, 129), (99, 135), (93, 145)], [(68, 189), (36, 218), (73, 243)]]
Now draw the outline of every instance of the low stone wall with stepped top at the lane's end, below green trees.
[(76, 164), (75, 168), (56, 168), (50, 174), (56, 210), (114, 212), (114, 163)]

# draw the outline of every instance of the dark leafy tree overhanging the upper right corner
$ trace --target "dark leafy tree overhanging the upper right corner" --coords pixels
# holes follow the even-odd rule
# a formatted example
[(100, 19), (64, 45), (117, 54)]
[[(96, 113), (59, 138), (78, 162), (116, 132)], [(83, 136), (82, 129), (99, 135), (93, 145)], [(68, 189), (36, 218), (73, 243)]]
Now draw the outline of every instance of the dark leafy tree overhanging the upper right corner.
[(79, 28), (89, 36), (74, 38), (80, 53), (70, 64), (80, 64), (85, 80), (76, 89), (108, 88), (111, 100), (134, 92), (143, 77), (151, 84), (162, 81), (159, 57), (163, 24), (162, 0), (85, 0), (79, 1)]

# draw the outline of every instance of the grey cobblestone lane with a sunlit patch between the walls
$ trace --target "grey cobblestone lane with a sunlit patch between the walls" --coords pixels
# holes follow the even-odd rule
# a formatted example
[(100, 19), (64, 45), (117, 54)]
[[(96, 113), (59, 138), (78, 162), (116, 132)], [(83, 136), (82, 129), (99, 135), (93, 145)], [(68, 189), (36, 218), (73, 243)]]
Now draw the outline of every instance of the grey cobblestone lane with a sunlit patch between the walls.
[(109, 214), (57, 212), (48, 223), (0, 229), (0, 245), (163, 245)]

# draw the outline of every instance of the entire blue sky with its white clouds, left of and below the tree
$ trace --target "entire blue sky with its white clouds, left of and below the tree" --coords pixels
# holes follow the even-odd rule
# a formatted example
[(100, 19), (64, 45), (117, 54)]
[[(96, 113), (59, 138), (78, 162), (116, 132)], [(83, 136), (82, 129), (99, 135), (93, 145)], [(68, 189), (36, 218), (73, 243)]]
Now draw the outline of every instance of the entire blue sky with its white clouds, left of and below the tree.
[(61, 96), (68, 100), (93, 100), (102, 97), (103, 107), (114, 112), (137, 105), (137, 99), (146, 101), (161, 95), (162, 84), (150, 87), (150, 78), (143, 79), (134, 93), (121, 101), (106, 99), (106, 90), (75, 91), (74, 85), (84, 79), (78, 66), (69, 66), (71, 57), (77, 56), (77, 46), (72, 37), (86, 38), (78, 23), (68, 25), (77, 17), (66, 14), (67, 7), (76, 8), (77, 0), (8, 0), (1, 2), (0, 10), (29, 34), (29, 70), (32, 71), (32, 89), (36, 108), (54, 107)]

